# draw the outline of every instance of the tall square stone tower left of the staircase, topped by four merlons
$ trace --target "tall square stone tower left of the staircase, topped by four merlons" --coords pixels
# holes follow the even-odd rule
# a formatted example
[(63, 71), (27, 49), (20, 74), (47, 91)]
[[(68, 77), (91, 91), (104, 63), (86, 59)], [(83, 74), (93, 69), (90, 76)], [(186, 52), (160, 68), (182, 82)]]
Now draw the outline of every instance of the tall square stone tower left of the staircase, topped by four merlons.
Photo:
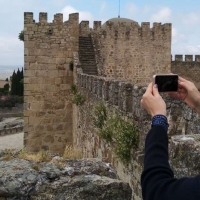
[(40, 13), (24, 13), (24, 119), (25, 146), (62, 153), (72, 143), (72, 103), (70, 88), (73, 74), (69, 63), (78, 51), (78, 14), (56, 14), (47, 22)]

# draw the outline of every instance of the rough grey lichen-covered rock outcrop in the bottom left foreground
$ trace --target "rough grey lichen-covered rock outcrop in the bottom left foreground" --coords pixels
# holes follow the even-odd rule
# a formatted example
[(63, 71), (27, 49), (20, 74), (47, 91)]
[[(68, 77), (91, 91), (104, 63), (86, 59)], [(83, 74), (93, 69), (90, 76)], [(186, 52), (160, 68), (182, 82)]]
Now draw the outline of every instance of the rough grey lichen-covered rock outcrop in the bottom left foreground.
[[(131, 188), (98, 160), (54, 157), (37, 163), (0, 153), (2, 200), (130, 200)], [(7, 159), (7, 161), (5, 160)]]

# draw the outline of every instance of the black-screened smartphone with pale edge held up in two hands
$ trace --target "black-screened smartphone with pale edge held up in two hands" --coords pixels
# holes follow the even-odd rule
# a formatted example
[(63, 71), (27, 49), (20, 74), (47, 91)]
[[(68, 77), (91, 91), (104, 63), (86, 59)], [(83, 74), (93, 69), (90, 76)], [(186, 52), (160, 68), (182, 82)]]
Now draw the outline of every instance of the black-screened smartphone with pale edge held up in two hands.
[(178, 90), (177, 74), (157, 74), (153, 76), (153, 82), (158, 85), (159, 92), (176, 92)]

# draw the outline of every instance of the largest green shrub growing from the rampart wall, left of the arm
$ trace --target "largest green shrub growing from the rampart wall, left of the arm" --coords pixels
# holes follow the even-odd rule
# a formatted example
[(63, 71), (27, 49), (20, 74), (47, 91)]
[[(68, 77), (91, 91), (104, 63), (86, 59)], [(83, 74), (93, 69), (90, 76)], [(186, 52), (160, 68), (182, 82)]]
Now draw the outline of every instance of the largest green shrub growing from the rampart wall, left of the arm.
[(95, 107), (94, 115), (94, 125), (99, 128), (99, 136), (106, 142), (113, 142), (115, 154), (122, 162), (130, 161), (131, 149), (136, 148), (139, 142), (139, 131), (134, 123), (118, 115), (108, 118), (103, 104)]

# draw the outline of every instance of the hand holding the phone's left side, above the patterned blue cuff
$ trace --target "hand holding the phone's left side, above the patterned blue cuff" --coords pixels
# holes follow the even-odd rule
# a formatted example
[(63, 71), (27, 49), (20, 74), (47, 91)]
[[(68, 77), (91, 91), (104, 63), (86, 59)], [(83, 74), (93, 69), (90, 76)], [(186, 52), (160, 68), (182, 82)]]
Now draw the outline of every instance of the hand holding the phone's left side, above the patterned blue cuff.
[(153, 83), (149, 84), (141, 99), (141, 104), (152, 117), (155, 115), (166, 116), (166, 104), (156, 86), (153, 86)]

